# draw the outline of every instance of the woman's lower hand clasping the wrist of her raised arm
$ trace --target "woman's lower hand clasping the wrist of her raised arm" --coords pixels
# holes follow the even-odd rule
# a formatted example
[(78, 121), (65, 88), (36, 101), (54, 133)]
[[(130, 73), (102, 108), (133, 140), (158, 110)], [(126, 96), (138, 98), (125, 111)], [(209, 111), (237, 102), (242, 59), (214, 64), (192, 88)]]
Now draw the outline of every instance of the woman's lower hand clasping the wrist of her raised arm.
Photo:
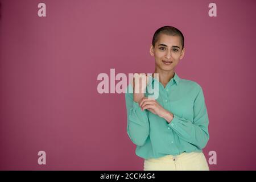
[(139, 106), (142, 110), (147, 109), (151, 111), (151, 113), (159, 115), (159, 117), (166, 119), (169, 123), (174, 118), (174, 115), (170, 111), (164, 109), (158, 101), (152, 98), (143, 97), (142, 100), (139, 101)]

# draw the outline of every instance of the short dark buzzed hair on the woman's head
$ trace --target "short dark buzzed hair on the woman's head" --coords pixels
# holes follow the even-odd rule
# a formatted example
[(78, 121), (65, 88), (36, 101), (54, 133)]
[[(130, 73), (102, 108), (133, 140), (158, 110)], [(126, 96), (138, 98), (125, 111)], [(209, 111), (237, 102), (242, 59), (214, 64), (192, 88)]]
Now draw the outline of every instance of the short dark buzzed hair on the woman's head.
[(181, 39), (182, 49), (184, 48), (184, 36), (182, 32), (179, 29), (171, 26), (164, 26), (164, 27), (158, 28), (158, 30), (155, 31), (155, 34), (152, 39), (153, 47), (155, 47), (155, 43), (158, 42), (160, 34), (179, 36)]

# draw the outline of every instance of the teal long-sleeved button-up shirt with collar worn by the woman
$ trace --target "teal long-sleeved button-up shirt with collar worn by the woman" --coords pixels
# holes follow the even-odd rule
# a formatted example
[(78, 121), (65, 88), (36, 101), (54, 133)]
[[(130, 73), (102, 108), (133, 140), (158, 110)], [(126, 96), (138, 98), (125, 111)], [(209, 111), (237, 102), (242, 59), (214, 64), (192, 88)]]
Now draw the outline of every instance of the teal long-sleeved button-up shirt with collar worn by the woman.
[[(152, 77), (149, 84), (158, 81)], [(174, 77), (166, 88), (158, 81), (159, 96), (156, 99), (164, 109), (174, 114), (170, 123), (151, 111), (141, 110), (133, 101), (129, 84), (125, 100), (127, 110), (127, 134), (137, 145), (135, 153), (144, 159), (179, 155), (183, 152), (201, 152), (209, 140), (208, 113), (201, 86), (195, 81)], [(148, 97), (147, 92), (145, 97)]]

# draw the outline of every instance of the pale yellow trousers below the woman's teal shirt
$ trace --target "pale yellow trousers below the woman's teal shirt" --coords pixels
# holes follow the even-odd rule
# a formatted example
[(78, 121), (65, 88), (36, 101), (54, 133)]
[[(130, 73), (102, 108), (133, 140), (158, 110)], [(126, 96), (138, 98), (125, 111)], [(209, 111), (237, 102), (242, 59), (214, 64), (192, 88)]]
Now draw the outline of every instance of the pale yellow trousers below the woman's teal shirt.
[(144, 159), (144, 171), (209, 171), (203, 152), (183, 152), (162, 158)]

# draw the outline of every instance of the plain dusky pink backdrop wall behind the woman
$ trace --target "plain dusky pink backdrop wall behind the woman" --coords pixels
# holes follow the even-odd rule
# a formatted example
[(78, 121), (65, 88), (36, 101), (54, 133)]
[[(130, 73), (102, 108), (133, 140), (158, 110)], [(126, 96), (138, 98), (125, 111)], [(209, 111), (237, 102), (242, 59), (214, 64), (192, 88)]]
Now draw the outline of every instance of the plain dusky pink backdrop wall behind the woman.
[[(46, 18), (38, 3), (46, 3)], [(210, 2), (217, 17), (208, 16)], [(255, 1), (1, 1), (0, 169), (142, 170), (124, 94), (99, 73), (154, 71), (152, 36), (185, 36), (181, 78), (205, 94), (211, 170), (256, 169)], [(39, 165), (38, 151), (47, 164)]]

